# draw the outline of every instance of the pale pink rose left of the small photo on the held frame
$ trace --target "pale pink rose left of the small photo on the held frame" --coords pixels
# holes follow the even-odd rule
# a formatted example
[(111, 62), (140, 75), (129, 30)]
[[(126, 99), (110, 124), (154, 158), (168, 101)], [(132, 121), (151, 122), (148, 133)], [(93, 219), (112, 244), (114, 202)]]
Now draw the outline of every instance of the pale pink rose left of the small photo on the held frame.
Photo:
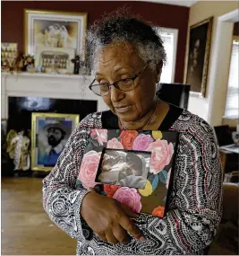
[(95, 182), (95, 179), (98, 170), (100, 154), (94, 150), (84, 154), (78, 179), (82, 181), (82, 185), (86, 189), (94, 188), (95, 185), (98, 184)]

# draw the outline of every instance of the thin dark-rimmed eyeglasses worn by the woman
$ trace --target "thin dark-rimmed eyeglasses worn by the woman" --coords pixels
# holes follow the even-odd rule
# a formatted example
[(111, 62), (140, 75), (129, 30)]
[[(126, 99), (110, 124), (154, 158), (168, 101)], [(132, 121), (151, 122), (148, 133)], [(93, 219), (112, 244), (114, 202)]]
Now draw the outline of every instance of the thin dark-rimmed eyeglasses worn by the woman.
[(98, 96), (107, 96), (110, 93), (110, 86), (115, 86), (116, 89), (122, 92), (130, 92), (137, 86), (137, 84), (134, 83), (134, 80), (141, 75), (141, 73), (145, 70), (146, 66), (149, 65), (149, 62), (150, 61), (148, 61), (145, 66), (143, 66), (140, 72), (130, 78), (117, 80), (113, 84), (94, 84), (96, 81), (96, 79), (94, 79), (94, 81), (90, 84), (89, 88), (93, 93), (97, 94)]

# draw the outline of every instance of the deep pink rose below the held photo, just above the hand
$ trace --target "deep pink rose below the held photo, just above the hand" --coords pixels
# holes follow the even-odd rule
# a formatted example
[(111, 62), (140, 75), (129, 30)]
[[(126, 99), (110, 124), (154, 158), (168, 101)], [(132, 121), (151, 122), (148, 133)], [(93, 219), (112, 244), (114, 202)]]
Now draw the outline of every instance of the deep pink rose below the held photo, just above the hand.
[(141, 211), (141, 196), (138, 194), (136, 189), (122, 187), (115, 191), (113, 199), (116, 199), (127, 207), (130, 207), (135, 213), (139, 213)]

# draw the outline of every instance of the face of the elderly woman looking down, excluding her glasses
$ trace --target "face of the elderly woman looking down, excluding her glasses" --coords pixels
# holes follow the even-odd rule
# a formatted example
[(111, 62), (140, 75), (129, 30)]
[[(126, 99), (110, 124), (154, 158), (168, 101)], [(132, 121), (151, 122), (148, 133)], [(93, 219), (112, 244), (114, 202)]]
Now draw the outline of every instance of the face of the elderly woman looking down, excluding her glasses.
[[(127, 47), (125, 47), (125, 45)], [(113, 84), (119, 79), (129, 78), (141, 71), (146, 63), (130, 44), (109, 45), (98, 52), (96, 58), (96, 80), (98, 84)], [(121, 92), (111, 86), (110, 93), (103, 96), (104, 102), (124, 122), (144, 117), (156, 93), (156, 72), (147, 66), (134, 80), (136, 87), (130, 92)]]

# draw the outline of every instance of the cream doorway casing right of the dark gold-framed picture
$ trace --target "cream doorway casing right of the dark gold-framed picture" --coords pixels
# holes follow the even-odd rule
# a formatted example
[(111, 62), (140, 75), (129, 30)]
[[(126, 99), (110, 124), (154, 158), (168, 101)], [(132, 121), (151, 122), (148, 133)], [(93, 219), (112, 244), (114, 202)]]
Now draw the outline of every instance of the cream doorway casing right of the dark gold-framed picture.
[[(209, 114), (211, 126), (222, 124), (226, 105), (231, 45), (234, 22), (239, 21), (239, 9), (218, 17), (214, 47), (211, 51), (209, 75)], [(227, 68), (226, 68), (227, 66)]]

